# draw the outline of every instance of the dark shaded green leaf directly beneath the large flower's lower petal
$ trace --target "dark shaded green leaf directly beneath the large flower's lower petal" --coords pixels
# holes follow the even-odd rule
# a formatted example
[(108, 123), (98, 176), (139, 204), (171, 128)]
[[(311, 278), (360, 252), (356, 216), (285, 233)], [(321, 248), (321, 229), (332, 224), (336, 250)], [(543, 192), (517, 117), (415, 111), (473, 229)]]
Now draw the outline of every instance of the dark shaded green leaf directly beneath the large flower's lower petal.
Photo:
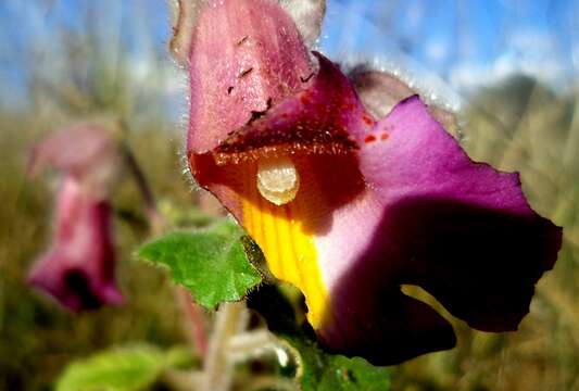
[(389, 390), (389, 368), (376, 367), (361, 357), (330, 354), (318, 345), (311, 327), (299, 325), (294, 308), (301, 305), (293, 303), (298, 292), (289, 285), (264, 285), (250, 294), (248, 306), (264, 316), (269, 330), (289, 344), (289, 351), (299, 366), (298, 380), (302, 389)]

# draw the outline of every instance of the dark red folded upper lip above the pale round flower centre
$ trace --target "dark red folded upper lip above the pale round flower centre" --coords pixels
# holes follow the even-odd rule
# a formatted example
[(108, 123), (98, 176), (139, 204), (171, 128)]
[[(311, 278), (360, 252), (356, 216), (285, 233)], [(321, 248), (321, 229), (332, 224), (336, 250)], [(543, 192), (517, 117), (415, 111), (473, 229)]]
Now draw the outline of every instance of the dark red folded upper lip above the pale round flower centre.
[(358, 148), (365, 123), (374, 121), (360, 105), (341, 72), (317, 54), (319, 72), (310, 88), (290, 97), (238, 129), (205, 154), (218, 165), (281, 154), (349, 154)]

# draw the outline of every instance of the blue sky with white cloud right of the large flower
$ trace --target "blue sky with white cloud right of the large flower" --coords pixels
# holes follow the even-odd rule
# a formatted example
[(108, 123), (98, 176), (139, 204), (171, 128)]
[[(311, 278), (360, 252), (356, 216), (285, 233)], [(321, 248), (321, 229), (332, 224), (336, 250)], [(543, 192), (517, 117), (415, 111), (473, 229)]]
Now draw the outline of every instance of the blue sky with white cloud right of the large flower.
[(410, 58), (458, 88), (514, 72), (562, 85), (579, 70), (578, 1), (340, 0), (329, 5), (325, 45), (332, 54)]

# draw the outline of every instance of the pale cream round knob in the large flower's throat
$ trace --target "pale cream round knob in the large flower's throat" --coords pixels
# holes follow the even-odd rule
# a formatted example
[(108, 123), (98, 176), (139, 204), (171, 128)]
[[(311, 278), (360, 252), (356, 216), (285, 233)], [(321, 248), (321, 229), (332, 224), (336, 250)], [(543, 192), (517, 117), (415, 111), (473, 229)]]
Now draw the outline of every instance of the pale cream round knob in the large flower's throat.
[(257, 163), (257, 190), (264, 199), (284, 205), (293, 201), (300, 175), (288, 156), (262, 159)]

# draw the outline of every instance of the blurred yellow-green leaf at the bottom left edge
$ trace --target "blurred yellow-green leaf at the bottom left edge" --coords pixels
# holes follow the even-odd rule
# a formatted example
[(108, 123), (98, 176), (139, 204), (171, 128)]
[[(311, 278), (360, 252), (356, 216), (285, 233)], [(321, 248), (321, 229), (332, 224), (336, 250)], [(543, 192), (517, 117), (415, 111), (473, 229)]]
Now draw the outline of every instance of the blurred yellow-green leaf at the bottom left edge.
[(112, 349), (70, 364), (56, 391), (142, 390), (158, 380), (165, 363), (165, 354), (152, 346)]

